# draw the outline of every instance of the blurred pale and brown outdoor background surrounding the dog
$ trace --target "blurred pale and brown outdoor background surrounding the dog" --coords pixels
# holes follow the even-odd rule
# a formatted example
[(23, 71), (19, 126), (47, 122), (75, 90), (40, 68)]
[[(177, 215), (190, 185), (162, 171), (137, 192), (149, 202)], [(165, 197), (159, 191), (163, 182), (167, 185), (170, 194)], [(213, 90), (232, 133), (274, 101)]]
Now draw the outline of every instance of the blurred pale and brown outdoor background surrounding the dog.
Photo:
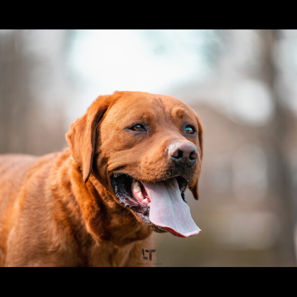
[(162, 266), (295, 266), (296, 30), (0, 30), (0, 153), (42, 155), (100, 94), (181, 98), (205, 127), (202, 229)]

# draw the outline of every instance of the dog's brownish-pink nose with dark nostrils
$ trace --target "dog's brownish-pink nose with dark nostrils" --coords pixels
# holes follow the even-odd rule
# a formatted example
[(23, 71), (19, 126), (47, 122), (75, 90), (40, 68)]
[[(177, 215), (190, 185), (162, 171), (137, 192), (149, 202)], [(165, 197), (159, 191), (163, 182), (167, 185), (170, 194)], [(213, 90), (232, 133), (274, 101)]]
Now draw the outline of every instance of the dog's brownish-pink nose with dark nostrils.
[(193, 164), (197, 160), (197, 148), (190, 142), (177, 141), (168, 147), (169, 156), (179, 164)]

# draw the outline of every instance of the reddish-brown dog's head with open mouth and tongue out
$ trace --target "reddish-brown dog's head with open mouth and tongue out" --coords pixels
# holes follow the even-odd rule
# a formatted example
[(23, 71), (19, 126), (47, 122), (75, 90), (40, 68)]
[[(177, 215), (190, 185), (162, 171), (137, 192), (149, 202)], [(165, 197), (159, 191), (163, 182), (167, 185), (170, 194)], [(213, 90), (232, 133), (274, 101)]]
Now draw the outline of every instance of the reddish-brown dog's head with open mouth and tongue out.
[(203, 130), (177, 98), (143, 92), (100, 96), (67, 133), (82, 182), (93, 174), (113, 199), (156, 232), (200, 232), (184, 192), (198, 199)]

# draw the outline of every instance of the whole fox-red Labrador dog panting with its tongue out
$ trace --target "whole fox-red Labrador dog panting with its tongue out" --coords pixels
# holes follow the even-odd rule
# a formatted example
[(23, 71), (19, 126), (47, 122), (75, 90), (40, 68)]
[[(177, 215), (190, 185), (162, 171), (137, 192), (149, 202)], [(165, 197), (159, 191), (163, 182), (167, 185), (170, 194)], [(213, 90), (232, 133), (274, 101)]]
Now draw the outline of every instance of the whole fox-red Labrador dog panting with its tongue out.
[(135, 266), (152, 232), (200, 232), (184, 192), (198, 198), (202, 126), (164, 95), (100, 96), (42, 157), (0, 157), (0, 265)]

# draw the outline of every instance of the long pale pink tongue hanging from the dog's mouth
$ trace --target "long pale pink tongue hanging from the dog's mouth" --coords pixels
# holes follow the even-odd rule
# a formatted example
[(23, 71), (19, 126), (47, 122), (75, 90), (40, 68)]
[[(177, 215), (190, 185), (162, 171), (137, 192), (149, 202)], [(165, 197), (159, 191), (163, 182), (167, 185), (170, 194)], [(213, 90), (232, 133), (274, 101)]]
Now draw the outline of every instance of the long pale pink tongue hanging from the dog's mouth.
[(167, 229), (179, 237), (189, 237), (200, 233), (193, 221), (190, 208), (183, 201), (176, 178), (166, 182), (142, 182), (149, 199), (150, 221)]

